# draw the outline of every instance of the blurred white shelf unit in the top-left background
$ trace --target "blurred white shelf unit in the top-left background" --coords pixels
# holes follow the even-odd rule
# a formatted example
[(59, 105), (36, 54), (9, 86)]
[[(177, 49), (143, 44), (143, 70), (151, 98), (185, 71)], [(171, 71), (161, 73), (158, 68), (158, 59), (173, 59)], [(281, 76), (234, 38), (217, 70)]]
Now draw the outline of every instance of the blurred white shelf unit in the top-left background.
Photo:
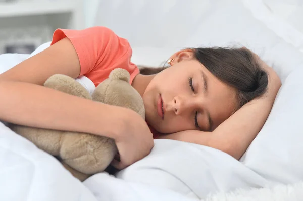
[(32, 53), (57, 28), (83, 29), (93, 0), (0, 0), (0, 54)]

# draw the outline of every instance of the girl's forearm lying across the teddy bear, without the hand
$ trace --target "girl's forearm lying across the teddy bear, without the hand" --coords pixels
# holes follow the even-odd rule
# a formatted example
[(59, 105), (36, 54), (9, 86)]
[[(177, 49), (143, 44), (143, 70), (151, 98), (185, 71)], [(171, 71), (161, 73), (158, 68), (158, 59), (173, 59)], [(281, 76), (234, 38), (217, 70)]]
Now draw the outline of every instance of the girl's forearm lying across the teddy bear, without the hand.
[(39, 85), (0, 82), (0, 120), (39, 128), (78, 131), (116, 138), (108, 120), (118, 107)]

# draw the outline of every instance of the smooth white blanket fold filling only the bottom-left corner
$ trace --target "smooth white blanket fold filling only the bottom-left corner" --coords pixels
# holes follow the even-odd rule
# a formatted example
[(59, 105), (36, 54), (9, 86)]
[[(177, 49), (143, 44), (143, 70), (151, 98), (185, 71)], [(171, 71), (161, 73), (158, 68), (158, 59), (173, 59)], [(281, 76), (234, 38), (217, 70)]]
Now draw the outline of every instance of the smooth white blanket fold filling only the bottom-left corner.
[(0, 199), (96, 200), (51, 155), (0, 123)]

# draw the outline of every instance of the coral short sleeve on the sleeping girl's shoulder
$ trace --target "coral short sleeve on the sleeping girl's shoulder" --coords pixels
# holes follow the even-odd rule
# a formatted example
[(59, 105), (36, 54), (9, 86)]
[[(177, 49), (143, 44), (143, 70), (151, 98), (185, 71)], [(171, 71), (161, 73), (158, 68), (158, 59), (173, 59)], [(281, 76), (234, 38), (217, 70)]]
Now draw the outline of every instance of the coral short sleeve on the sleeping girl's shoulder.
[(132, 49), (129, 42), (106, 27), (91, 27), (83, 30), (57, 29), (51, 44), (63, 38), (72, 42), (80, 62), (80, 76), (85, 75), (97, 86), (108, 78), (115, 68), (126, 69), (130, 83), (139, 73), (138, 67), (130, 62)]

